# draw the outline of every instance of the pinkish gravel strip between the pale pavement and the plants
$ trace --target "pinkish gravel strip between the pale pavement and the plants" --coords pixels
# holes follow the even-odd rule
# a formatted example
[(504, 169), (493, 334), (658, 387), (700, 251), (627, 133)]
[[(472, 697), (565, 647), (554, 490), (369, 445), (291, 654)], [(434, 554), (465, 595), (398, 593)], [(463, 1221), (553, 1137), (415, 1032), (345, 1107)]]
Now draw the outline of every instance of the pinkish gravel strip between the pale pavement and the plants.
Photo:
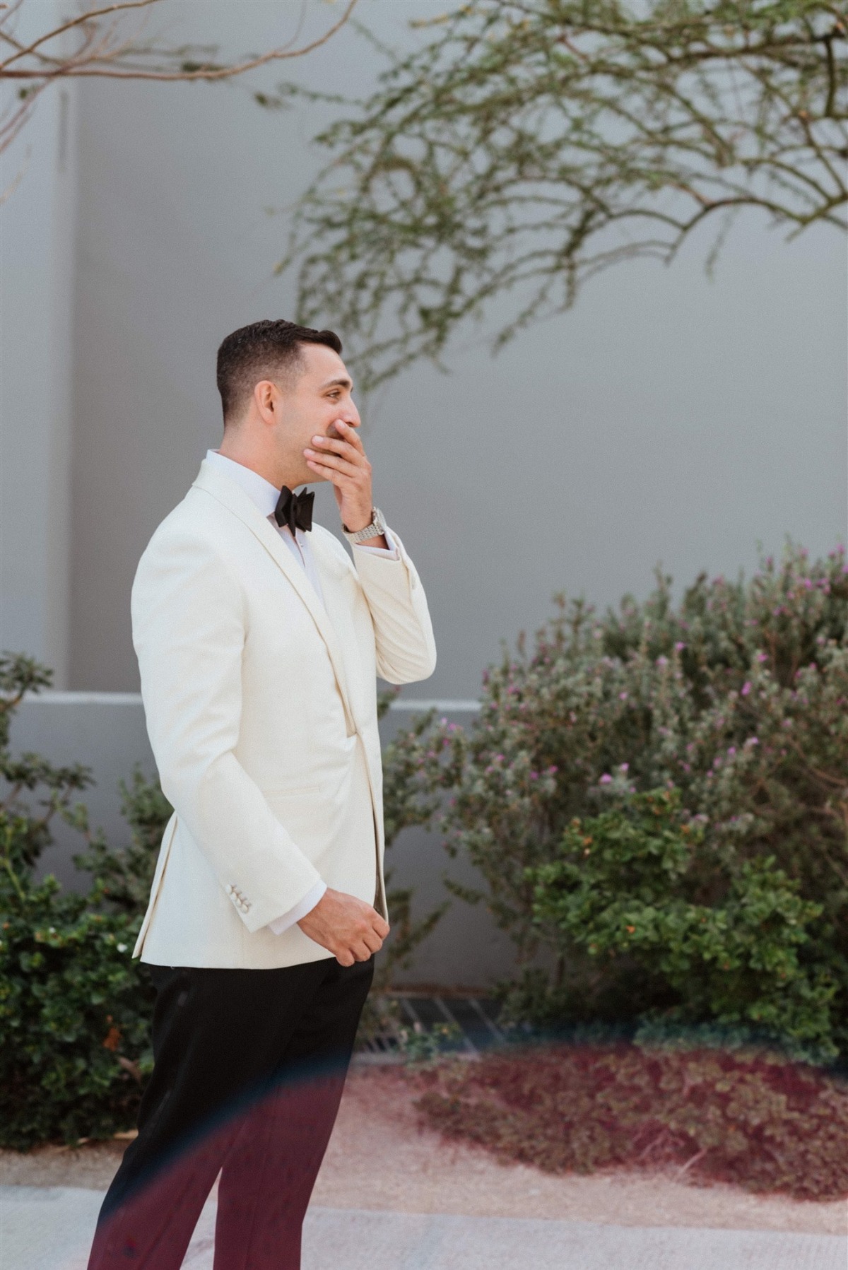
[[(312, 1201), (319, 1208), (845, 1234), (848, 1204), (697, 1186), (663, 1173), (553, 1176), (500, 1163), (482, 1148), (421, 1128), (414, 1086), (396, 1068), (354, 1071)], [(0, 1152), (0, 1181), (104, 1190), (124, 1142)]]

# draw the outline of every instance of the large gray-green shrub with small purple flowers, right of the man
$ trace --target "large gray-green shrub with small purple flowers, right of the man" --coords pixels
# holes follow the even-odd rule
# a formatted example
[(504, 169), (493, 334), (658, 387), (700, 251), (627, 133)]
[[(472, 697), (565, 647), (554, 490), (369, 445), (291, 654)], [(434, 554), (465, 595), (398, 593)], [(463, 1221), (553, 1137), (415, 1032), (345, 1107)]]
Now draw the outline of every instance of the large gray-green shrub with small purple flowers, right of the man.
[[(562, 864), (575, 817), (613, 808), (626, 817), (635, 796), (669, 790), (703, 834), (686, 878), (687, 902), (710, 908), (710, 921), (729, 907), (741, 918), (752, 888), (765, 886), (777, 904), (762, 927), (763, 947), (748, 960), (750, 973), (763, 963), (760, 987), (768, 980), (777, 996), (759, 1020), (749, 1012), (749, 1022), (795, 1029), (825, 1050), (848, 1053), (844, 550), (810, 561), (790, 545), (782, 561), (764, 560), (750, 582), (701, 577), (677, 605), (663, 575), (647, 601), (626, 597), (604, 616), (580, 601), (560, 597), (557, 605), (531, 648), (519, 640), (514, 655), (486, 672), (470, 728), (429, 718), (386, 756), (390, 766), (402, 765), (406, 803), (432, 814), (448, 851), (480, 870), (480, 890), (453, 889), (484, 900), (515, 940), (519, 975), (508, 1007), (547, 1020), (636, 1021), (658, 1011), (725, 1017), (721, 1002), (738, 988), (725, 993), (719, 982), (738, 977), (732, 960), (727, 970), (725, 961), (710, 963), (706, 991), (698, 975), (658, 977), (661, 968), (644, 942), (641, 954), (633, 944), (608, 949), (614, 956), (600, 956), (599, 947), (592, 954), (564, 919), (564, 871), (545, 872)], [(387, 787), (392, 780), (387, 771)], [(644, 853), (642, 864), (649, 860)], [(580, 861), (571, 864), (579, 876)], [(589, 879), (595, 865), (583, 866)], [(547, 881), (550, 902), (540, 894)], [(666, 902), (679, 881), (668, 875)], [(604, 907), (633, 900), (626, 872), (612, 870), (593, 884)], [(793, 904), (797, 927), (777, 916)], [(749, 921), (749, 941), (754, 931)], [(776, 939), (786, 941), (801, 977), (787, 970), (783, 993), (769, 961)], [(540, 969), (540, 960), (552, 969)], [(804, 1025), (788, 991), (790, 983), (801, 991), (802, 980), (814, 998)]]

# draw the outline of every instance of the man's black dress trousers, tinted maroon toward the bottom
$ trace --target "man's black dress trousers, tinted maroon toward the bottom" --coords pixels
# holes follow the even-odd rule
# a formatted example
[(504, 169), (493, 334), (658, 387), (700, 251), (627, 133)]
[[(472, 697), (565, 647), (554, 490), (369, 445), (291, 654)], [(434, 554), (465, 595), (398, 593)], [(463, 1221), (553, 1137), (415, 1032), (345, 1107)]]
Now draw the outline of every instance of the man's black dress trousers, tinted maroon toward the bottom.
[(218, 1172), (215, 1270), (298, 1270), (373, 959), (149, 969), (154, 1073), (89, 1270), (179, 1270)]

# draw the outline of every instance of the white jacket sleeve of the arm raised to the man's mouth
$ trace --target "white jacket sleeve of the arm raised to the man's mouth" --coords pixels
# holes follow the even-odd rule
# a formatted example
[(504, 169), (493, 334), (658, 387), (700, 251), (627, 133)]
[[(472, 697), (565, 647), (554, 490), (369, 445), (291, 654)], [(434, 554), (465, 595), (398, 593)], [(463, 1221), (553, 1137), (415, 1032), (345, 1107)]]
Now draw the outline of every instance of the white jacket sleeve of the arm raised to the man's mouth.
[(396, 560), (355, 546), (353, 560), (374, 626), (377, 674), (388, 683), (414, 683), (435, 669), (435, 640), (415, 565), (390, 532)]

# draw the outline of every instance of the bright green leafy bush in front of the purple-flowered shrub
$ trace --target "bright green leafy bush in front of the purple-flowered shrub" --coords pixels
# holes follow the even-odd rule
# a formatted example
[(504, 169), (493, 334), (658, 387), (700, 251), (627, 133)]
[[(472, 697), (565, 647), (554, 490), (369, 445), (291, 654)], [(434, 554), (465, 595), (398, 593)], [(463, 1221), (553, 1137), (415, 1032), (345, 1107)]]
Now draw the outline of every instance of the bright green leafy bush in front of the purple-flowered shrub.
[(575, 818), (557, 859), (531, 870), (536, 918), (607, 973), (622, 959), (642, 970), (677, 1002), (669, 1020), (743, 1024), (834, 1057), (837, 984), (826, 966), (800, 961), (821, 906), (801, 899), (773, 857), (743, 860), (722, 878), (703, 839), (703, 826), (680, 815), (677, 790)]

